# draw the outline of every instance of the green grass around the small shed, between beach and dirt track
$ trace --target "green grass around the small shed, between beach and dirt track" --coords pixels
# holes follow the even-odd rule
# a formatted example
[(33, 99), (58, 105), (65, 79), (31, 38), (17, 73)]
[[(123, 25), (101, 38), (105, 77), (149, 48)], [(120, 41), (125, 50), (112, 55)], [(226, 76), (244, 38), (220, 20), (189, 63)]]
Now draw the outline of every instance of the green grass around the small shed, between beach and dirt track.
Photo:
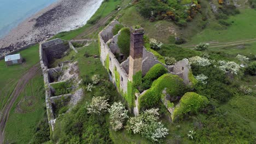
[(25, 62), (20, 65), (5, 65), (4, 59), (0, 61), (0, 110), (3, 109), (5, 103), (7, 103), (8, 98), (13, 92), (16, 83), (22, 75), (26, 73), (34, 64), (39, 62), (39, 52), (38, 45), (29, 47), (26, 50), (22, 50), (22, 58)]

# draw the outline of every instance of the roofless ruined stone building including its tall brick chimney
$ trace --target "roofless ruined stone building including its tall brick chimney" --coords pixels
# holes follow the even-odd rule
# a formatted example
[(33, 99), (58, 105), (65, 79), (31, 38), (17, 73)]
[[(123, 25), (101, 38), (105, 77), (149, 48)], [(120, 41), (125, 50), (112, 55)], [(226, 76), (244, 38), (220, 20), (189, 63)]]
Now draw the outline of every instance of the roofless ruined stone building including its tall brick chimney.
[[(154, 56), (153, 53), (147, 51), (143, 46), (143, 28), (131, 28), (130, 56), (125, 61), (119, 63), (114, 53), (120, 52), (117, 44), (120, 31), (117, 35), (113, 35), (112, 32), (114, 26), (117, 24), (120, 24), (120, 22), (116, 20), (110, 22), (109, 25), (99, 33), (98, 37), (100, 41), (101, 62), (108, 70), (109, 78), (114, 85), (117, 86), (120, 94), (127, 94), (128, 82), (133, 81), (132, 76), (134, 74), (138, 71), (142, 71), (142, 75), (144, 76), (149, 69), (157, 63), (164, 65), (169, 73), (180, 76), (184, 80), (184, 83), (190, 83), (188, 79), (190, 69), (188, 60), (183, 59), (182, 61), (170, 66), (159, 62), (157, 57)], [(134, 95), (134, 97), (136, 96)], [(137, 107), (138, 103), (136, 103), (135, 110), (133, 110), (135, 114), (138, 113)]]

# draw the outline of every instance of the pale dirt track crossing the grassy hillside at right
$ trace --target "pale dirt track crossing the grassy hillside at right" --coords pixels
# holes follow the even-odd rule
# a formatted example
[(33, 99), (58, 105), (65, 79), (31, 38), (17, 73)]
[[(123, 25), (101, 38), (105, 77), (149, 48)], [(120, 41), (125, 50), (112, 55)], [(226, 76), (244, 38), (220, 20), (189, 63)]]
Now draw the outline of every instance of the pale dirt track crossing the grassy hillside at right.
[[(255, 42), (256, 39), (247, 39), (247, 40), (237, 40), (237, 41), (230, 41), (226, 43), (219, 43), (218, 41), (205, 41), (202, 43), (208, 43), (210, 44), (209, 47), (225, 47), (225, 46), (235, 46), (235, 45), (242, 45), (242, 44), (248, 44)], [(185, 45), (183, 47), (194, 49), (196, 45)]]

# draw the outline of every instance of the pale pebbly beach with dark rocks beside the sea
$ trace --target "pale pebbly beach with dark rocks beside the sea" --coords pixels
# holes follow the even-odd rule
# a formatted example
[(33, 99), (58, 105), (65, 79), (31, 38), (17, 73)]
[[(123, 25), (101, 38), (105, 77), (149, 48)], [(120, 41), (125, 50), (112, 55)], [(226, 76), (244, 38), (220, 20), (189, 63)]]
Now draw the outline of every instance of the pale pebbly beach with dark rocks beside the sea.
[(0, 39), (0, 57), (86, 24), (103, 0), (59, 0), (19, 23)]

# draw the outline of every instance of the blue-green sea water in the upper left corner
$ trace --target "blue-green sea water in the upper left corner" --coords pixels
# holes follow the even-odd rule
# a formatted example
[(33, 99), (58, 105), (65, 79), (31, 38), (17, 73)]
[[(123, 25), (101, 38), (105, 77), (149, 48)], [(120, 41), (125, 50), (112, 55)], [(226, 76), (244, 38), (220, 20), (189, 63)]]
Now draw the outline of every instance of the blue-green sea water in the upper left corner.
[(0, 38), (27, 17), (57, 0), (0, 0)]

